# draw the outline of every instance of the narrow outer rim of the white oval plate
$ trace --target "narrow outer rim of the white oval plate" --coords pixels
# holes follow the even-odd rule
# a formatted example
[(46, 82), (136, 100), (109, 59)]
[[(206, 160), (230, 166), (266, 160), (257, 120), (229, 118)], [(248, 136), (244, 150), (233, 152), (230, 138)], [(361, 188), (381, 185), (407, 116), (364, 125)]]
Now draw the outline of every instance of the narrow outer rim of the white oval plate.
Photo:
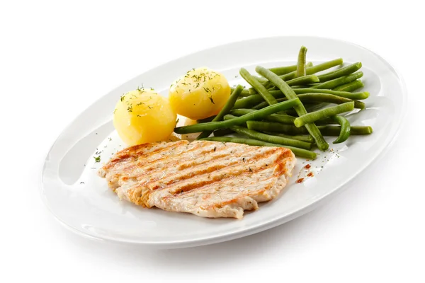
[[(47, 201), (47, 198), (45, 197), (45, 194), (43, 193), (44, 190), (43, 190), (42, 181), (43, 181), (43, 175), (45, 173), (45, 168), (47, 166), (47, 159), (49, 157), (50, 152), (52, 151), (52, 148), (57, 143), (57, 140), (62, 136), (62, 134), (64, 132), (67, 131), (67, 129), (69, 129), (69, 127), (71, 127), (74, 124), (75, 120), (77, 120), (77, 118), (79, 116), (81, 116), (81, 114), (83, 114), (87, 109), (91, 108), (93, 105), (96, 105), (96, 103), (98, 103), (98, 101), (101, 100), (104, 96), (106, 96), (108, 93), (111, 93), (111, 92), (117, 90), (123, 84), (128, 83), (129, 81), (135, 80), (137, 77), (142, 76), (146, 73), (149, 73), (150, 71), (153, 71), (154, 69), (161, 68), (161, 67), (163, 67), (164, 65), (167, 65), (167, 64), (171, 64), (172, 62), (176, 62), (178, 60), (185, 59), (186, 57), (193, 56), (194, 54), (206, 52), (208, 50), (213, 50), (217, 47), (225, 47), (227, 45), (233, 45), (233, 44), (242, 43), (242, 42), (249, 44), (249, 42), (253, 42), (253, 41), (256, 41), (256, 40), (273, 40), (273, 39), (278, 39), (278, 38), (287, 38), (287, 39), (290, 39), (290, 38), (310, 38), (310, 39), (312, 39), (313, 38), (313, 39), (317, 39), (317, 40), (331, 40), (331, 41), (341, 42), (341, 43), (344, 43), (346, 45), (352, 45), (352, 46), (358, 47), (362, 50), (365, 50), (367, 52), (370, 52), (371, 54), (378, 57), (382, 62), (384, 62), (387, 65), (387, 67), (392, 69), (392, 71), (398, 77), (399, 85), (401, 86), (401, 90), (402, 90), (402, 96), (401, 96), (401, 98), (402, 98), (402, 109), (401, 109), (401, 112), (400, 112), (400, 119), (395, 122), (395, 127), (394, 127), (395, 130), (394, 130), (394, 134), (392, 135), (392, 137), (390, 137), (390, 139), (387, 139), (385, 146), (382, 146), (382, 149), (380, 149), (380, 151), (376, 151), (375, 154), (373, 155), (373, 158), (371, 158), (370, 161), (365, 163), (365, 165), (363, 166), (363, 168), (361, 168), (361, 170), (359, 170), (355, 174), (351, 175), (349, 178), (347, 178), (347, 180), (344, 181), (344, 183), (341, 183), (341, 185), (335, 187), (334, 190), (331, 190), (327, 194), (322, 195), (321, 197), (319, 197), (314, 202), (312, 202), (310, 204), (306, 204), (304, 207), (300, 207), (300, 209), (297, 209), (295, 212), (292, 212), (290, 214), (285, 214), (284, 216), (278, 216), (274, 219), (266, 219), (265, 221), (262, 221), (260, 224), (256, 224), (254, 226), (251, 226), (249, 229), (242, 229), (240, 231), (234, 231), (234, 232), (230, 232), (230, 233), (220, 233), (220, 234), (215, 235), (215, 236), (207, 236), (207, 237), (196, 238), (196, 239), (192, 239), (192, 240), (133, 241), (133, 240), (130, 240), (130, 239), (123, 240), (122, 238), (114, 238), (114, 237), (108, 237), (108, 236), (95, 236), (95, 235), (91, 235), (89, 233), (85, 233), (84, 231), (80, 231), (79, 229), (74, 228), (73, 226), (67, 224), (66, 221), (60, 219), (60, 217), (57, 214), (55, 214), (55, 212), (53, 212), (52, 208), (49, 205), (49, 202)], [(57, 136), (55, 141), (52, 142), (52, 145), (47, 150), (47, 152), (45, 154), (45, 158), (42, 161), (43, 162), (42, 163), (42, 170), (41, 170), (39, 178), (38, 178), (39, 179), (38, 180), (39, 193), (40, 193), (40, 197), (42, 199), (42, 202), (45, 204), (45, 207), (47, 207), (47, 210), (52, 214), (52, 216), (54, 216), (54, 219), (59, 221), (59, 223), (62, 224), (62, 226), (69, 229), (69, 231), (72, 231), (79, 236), (83, 236), (84, 238), (89, 238), (91, 240), (96, 240), (96, 241), (101, 241), (101, 242), (110, 241), (112, 243), (121, 243), (121, 244), (137, 245), (137, 246), (152, 246), (154, 248), (188, 248), (188, 247), (194, 247), (194, 246), (205, 246), (205, 245), (210, 245), (210, 244), (213, 244), (213, 243), (221, 243), (221, 242), (224, 242), (224, 241), (232, 241), (232, 240), (237, 239), (237, 238), (242, 238), (244, 236), (249, 236), (249, 235), (252, 235), (254, 233), (259, 233), (261, 231), (266, 231), (268, 229), (272, 229), (276, 226), (280, 226), (281, 224), (285, 224), (288, 221), (292, 221), (293, 219), (296, 219), (297, 217), (302, 216), (302, 215), (304, 215), (308, 212), (311, 212), (312, 210), (314, 210), (317, 207), (324, 204), (324, 202), (326, 202), (327, 200), (331, 200), (331, 198), (334, 197), (334, 195), (336, 195), (336, 193), (343, 192), (348, 187), (348, 185), (350, 185), (353, 182), (353, 180), (361, 172), (363, 172), (366, 168), (370, 167), (374, 163), (378, 162), (380, 160), (380, 158), (382, 158), (382, 156), (384, 156), (385, 153), (387, 151), (389, 151), (389, 149), (394, 145), (395, 141), (397, 140), (397, 137), (399, 136), (400, 129), (401, 129), (402, 125), (404, 124), (405, 117), (407, 115), (407, 108), (408, 108), (408, 101), (409, 101), (407, 86), (406, 86), (406, 83), (403, 79), (402, 74), (400, 74), (399, 71), (397, 71), (397, 69), (394, 67), (394, 64), (390, 64), (390, 62), (388, 62), (386, 59), (381, 57), (379, 54), (373, 52), (372, 50), (369, 50), (366, 47), (363, 47), (361, 45), (357, 45), (356, 43), (349, 42), (347, 40), (340, 40), (340, 39), (333, 38), (333, 37), (304, 36), (304, 35), (288, 35), (288, 36), (287, 35), (280, 35), (280, 36), (271, 36), (271, 37), (253, 37), (253, 38), (249, 38), (249, 39), (246, 39), (246, 40), (237, 40), (237, 41), (227, 42), (227, 43), (222, 44), (222, 45), (214, 45), (212, 47), (208, 47), (208, 48), (205, 48), (203, 50), (198, 50), (196, 52), (185, 54), (181, 57), (177, 57), (175, 59), (169, 60), (168, 62), (164, 62), (163, 64), (157, 65), (156, 67), (153, 67), (151, 69), (144, 71), (142, 74), (138, 74), (137, 76), (134, 76), (131, 79), (128, 79), (127, 81), (121, 83), (120, 86), (113, 88), (108, 93), (104, 93), (102, 96), (100, 96), (99, 98), (94, 100), (93, 103), (91, 103), (86, 108), (84, 108), (84, 110), (80, 111), (79, 114), (76, 115), (74, 117), (74, 119), (72, 119), (72, 121), (69, 122), (66, 125), (66, 127), (64, 127), (62, 129), (62, 131)]]

